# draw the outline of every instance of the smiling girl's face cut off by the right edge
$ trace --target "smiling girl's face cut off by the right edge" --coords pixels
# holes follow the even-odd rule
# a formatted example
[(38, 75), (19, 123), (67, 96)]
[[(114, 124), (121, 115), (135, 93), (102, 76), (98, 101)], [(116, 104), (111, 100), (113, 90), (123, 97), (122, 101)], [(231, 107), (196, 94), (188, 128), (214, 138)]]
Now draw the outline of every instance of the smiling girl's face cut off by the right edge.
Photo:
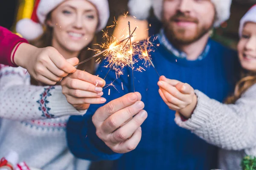
[(256, 71), (256, 23), (248, 22), (244, 25), (237, 48), (241, 66)]

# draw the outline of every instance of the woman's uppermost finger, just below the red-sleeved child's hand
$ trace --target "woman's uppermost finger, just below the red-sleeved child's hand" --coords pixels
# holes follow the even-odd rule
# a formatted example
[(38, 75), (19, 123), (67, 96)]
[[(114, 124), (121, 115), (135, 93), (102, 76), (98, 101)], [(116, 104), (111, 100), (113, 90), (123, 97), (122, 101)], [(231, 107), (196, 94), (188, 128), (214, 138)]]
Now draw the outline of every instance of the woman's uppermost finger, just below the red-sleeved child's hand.
[(74, 79), (80, 79), (85, 82), (89, 82), (93, 85), (97, 84), (97, 86), (100, 86), (100, 87), (104, 87), (106, 84), (104, 79), (81, 70), (77, 70), (75, 73), (70, 74), (70, 77)]

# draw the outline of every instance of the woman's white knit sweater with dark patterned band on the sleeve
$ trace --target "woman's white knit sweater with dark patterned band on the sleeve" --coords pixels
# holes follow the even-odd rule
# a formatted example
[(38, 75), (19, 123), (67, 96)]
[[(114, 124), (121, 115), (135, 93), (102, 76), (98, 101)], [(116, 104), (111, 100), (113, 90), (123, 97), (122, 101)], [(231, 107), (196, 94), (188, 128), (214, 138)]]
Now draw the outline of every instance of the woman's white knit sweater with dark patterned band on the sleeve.
[(25, 69), (0, 65), (0, 158), (13, 150), (30, 167), (86, 170), (90, 162), (75, 159), (65, 132), (69, 115), (84, 113), (67, 102), (61, 86), (30, 85)]

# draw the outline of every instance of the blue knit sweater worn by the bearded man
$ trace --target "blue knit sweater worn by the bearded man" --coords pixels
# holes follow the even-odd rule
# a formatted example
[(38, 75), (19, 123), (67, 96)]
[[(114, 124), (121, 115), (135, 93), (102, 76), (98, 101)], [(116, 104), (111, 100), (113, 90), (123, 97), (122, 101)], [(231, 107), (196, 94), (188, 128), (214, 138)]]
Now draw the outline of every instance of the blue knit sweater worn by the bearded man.
[[(159, 43), (159, 42), (156, 42)], [(212, 99), (223, 101), (233, 91), (233, 75), (236, 74), (236, 53), (213, 40), (210, 51), (202, 60), (188, 61), (175, 57), (165, 47), (157, 47), (151, 53), (152, 61), (160, 75), (187, 82), (194, 89)], [(177, 60), (177, 62), (176, 62)], [(139, 63), (141, 64), (141, 63)], [(105, 77), (109, 68), (99, 67), (97, 74)], [(175, 111), (171, 111), (161, 99), (157, 86), (159, 79), (154, 68), (134, 71), (135, 91), (140, 92), (148, 118), (142, 125), (142, 139), (130, 153), (113, 153), (95, 134), (92, 115), (102, 105), (91, 105), (84, 116), (71, 116), (67, 124), (68, 146), (82, 159), (114, 160), (114, 170), (210, 170), (216, 168), (217, 148), (207, 144), (190, 131), (178, 127)], [(128, 76), (129, 75), (129, 76)], [(113, 87), (104, 89), (107, 102), (133, 92), (131, 68), (124, 68), (124, 75), (116, 79), (111, 71), (106, 82)], [(124, 90), (122, 90), (122, 84)], [(111, 89), (111, 94), (108, 91)]]

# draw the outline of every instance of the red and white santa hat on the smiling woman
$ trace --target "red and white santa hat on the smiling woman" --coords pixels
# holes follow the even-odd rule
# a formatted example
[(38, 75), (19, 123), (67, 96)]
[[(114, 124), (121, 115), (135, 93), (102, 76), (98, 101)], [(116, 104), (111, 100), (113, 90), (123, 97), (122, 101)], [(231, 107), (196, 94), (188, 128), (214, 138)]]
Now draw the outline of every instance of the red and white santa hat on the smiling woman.
[[(47, 14), (65, 0), (36, 0), (31, 19), (20, 20), (16, 25), (17, 33), (27, 40), (34, 40), (43, 34), (43, 25)], [(109, 6), (108, 0), (87, 0), (92, 3), (99, 14), (99, 26), (97, 31), (101, 31), (108, 23)]]

